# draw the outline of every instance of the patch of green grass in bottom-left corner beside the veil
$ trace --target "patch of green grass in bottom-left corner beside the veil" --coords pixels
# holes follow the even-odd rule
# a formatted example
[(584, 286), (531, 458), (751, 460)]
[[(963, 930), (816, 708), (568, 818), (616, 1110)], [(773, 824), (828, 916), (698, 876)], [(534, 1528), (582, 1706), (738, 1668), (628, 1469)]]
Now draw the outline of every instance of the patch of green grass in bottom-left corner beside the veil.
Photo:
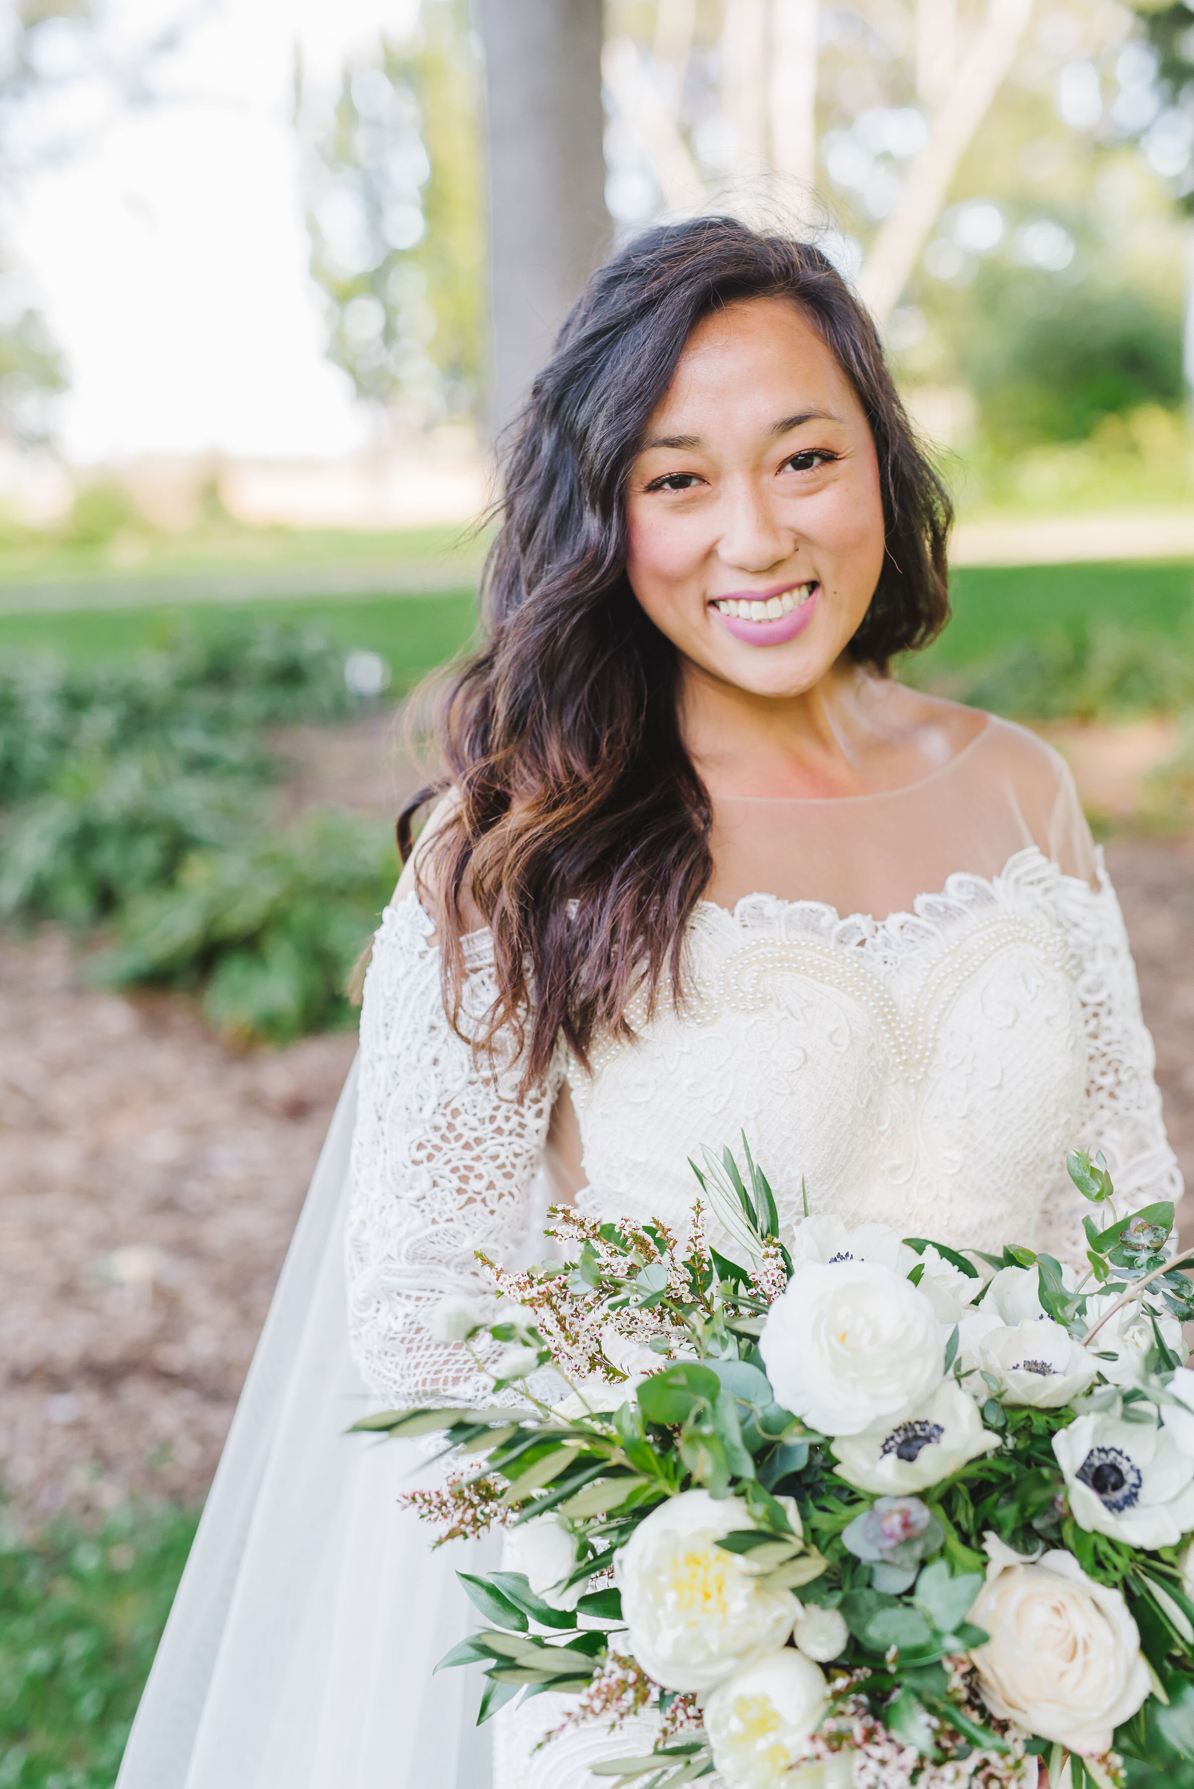
[(193, 1533), (163, 1506), (0, 1535), (4, 1789), (111, 1789)]

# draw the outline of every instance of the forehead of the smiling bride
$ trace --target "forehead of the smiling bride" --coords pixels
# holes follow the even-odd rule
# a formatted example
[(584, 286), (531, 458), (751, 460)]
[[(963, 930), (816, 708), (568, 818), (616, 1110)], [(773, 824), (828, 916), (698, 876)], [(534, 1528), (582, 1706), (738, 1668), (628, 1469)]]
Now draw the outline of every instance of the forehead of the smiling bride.
[[(792, 403), (788, 403), (792, 399)], [(831, 406), (862, 413), (854, 390), (790, 299), (749, 299), (704, 317), (688, 336), (652, 422), (717, 406), (769, 415)]]

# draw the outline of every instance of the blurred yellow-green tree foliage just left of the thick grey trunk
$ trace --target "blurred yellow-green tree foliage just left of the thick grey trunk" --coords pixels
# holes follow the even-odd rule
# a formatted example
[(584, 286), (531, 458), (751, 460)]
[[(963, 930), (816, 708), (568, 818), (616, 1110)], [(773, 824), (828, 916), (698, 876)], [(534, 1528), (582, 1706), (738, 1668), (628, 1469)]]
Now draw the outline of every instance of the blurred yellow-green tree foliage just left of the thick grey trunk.
[(343, 70), (331, 120), (304, 93), (311, 274), (329, 354), (391, 422), (468, 417), (484, 383), (481, 75), (467, 0)]

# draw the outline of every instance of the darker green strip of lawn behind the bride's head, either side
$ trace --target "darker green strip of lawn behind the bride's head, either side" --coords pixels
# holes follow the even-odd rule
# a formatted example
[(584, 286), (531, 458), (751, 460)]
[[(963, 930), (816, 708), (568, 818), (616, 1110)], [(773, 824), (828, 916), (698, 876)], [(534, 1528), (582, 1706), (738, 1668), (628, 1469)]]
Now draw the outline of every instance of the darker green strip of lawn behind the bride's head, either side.
[[(164, 640), (179, 623), (220, 626), (232, 615), (309, 621), (345, 648), (370, 648), (390, 660), (395, 683), (459, 651), (474, 628), (475, 596), (458, 587), (425, 596), (302, 596), (259, 601), (163, 601), (104, 606), (88, 590), (86, 606), (4, 612), (5, 646), (52, 648), (79, 658), (123, 657)], [(97, 601), (97, 598), (100, 598)], [(1194, 564), (1139, 562), (1092, 565), (963, 567), (953, 576), (954, 615), (931, 657), (942, 667), (980, 664), (1024, 639), (1078, 626), (1178, 637), (1194, 619)]]

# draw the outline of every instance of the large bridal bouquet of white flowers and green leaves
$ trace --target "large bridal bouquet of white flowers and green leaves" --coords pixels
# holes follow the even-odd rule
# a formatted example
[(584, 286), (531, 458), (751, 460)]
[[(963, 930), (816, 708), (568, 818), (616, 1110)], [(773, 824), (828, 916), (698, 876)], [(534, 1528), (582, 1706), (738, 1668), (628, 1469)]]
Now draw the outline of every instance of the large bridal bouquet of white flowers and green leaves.
[(497, 1317), (443, 1301), (493, 1404), (356, 1428), (441, 1431), (447, 1481), (406, 1497), (441, 1540), (508, 1530), (441, 1660), (484, 1666), (481, 1717), (651, 1712), (649, 1751), (592, 1768), (642, 1789), (1187, 1771), (1194, 1288), (1171, 1204), (1121, 1218), (1101, 1156), (1067, 1166), (1083, 1274), (826, 1217), (785, 1245), (726, 1150), (683, 1238), (556, 1211), (568, 1259), (486, 1263)]

